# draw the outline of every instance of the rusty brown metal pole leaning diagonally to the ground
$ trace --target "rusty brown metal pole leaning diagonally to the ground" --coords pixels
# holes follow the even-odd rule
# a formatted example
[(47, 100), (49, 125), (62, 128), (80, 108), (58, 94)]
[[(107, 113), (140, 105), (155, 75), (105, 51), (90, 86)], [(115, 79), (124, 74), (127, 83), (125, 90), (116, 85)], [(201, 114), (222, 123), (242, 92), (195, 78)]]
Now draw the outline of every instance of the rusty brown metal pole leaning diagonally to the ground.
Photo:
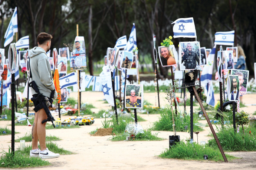
[(204, 116), (205, 116), (205, 118), (206, 118), (206, 120), (207, 120), (207, 123), (208, 123), (208, 125), (209, 125), (209, 127), (210, 127), (210, 129), (211, 129), (211, 133), (213, 133), (214, 139), (216, 140), (216, 143), (217, 143), (217, 145), (218, 145), (218, 147), (219, 147), (219, 149), (220, 149), (220, 153), (221, 153), (221, 155), (222, 155), (224, 161), (225, 161), (225, 162), (228, 162), (228, 161), (227, 161), (227, 158), (226, 158), (226, 155), (225, 155), (225, 153), (224, 153), (224, 151), (223, 151), (223, 149), (222, 149), (222, 147), (221, 147), (221, 145), (220, 145), (220, 141), (219, 141), (219, 139), (218, 139), (218, 137), (217, 137), (217, 135), (216, 135), (216, 133), (215, 133), (215, 131), (214, 131), (214, 129), (213, 129), (213, 126), (211, 125), (210, 119), (208, 118), (208, 115), (207, 115), (207, 113), (206, 113), (206, 111), (205, 111), (205, 109), (204, 109), (203, 103), (199, 100), (198, 93), (197, 93), (196, 88), (195, 88), (194, 86), (193, 86), (193, 90), (194, 90), (195, 96), (196, 96), (196, 98), (197, 98), (197, 101), (198, 101), (198, 103), (199, 103), (199, 105), (200, 105), (200, 107), (201, 107), (201, 109), (202, 109), (202, 111), (203, 111), (203, 113), (204, 113)]

